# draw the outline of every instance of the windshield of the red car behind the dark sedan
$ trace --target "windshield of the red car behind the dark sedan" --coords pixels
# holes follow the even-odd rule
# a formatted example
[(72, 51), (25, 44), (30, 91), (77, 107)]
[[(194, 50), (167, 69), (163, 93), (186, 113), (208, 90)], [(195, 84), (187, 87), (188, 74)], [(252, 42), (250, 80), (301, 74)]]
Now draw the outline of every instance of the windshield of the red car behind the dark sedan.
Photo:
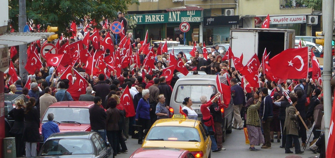
[[(47, 114), (54, 114), (54, 121), (63, 123), (72, 123), (73, 121), (83, 124), (90, 124), (88, 108), (73, 108), (73, 107), (51, 107), (48, 108), (42, 121), (48, 120)], [(71, 121), (71, 122), (64, 122)]]

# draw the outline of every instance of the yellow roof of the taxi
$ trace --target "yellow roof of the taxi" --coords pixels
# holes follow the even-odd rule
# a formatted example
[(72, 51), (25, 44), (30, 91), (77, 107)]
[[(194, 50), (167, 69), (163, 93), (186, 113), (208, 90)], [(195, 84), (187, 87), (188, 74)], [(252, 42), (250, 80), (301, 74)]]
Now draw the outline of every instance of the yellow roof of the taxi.
[(196, 127), (200, 121), (193, 119), (184, 118), (165, 118), (157, 120), (153, 126), (184, 126), (184, 127)]

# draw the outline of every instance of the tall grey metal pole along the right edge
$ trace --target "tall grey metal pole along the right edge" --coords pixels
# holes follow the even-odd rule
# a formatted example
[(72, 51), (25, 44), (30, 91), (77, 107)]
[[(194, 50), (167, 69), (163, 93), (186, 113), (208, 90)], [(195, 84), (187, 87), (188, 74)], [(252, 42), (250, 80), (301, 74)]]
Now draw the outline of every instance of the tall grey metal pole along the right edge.
[(324, 56), (323, 56), (323, 98), (324, 98), (324, 123), (325, 123), (325, 143), (328, 144), (330, 117), (332, 113), (332, 92), (330, 80), (332, 78), (332, 38), (334, 23), (334, 0), (322, 0), (322, 32), (324, 36)]

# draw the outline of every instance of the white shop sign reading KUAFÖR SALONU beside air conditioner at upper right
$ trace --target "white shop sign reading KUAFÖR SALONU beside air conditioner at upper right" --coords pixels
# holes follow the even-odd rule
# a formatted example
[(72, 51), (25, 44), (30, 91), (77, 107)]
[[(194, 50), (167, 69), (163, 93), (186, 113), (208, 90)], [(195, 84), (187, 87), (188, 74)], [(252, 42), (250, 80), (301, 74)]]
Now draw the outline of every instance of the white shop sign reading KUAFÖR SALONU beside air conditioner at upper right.
[(270, 24), (306, 23), (306, 15), (270, 16)]

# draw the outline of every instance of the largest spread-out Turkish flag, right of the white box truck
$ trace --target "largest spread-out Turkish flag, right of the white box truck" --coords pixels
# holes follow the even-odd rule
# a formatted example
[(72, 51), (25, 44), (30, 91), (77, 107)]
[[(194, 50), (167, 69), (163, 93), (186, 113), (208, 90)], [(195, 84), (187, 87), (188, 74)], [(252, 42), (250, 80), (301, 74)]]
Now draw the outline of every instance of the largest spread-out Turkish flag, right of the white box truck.
[(290, 48), (269, 60), (272, 73), (277, 78), (306, 78), (308, 73), (308, 47)]

